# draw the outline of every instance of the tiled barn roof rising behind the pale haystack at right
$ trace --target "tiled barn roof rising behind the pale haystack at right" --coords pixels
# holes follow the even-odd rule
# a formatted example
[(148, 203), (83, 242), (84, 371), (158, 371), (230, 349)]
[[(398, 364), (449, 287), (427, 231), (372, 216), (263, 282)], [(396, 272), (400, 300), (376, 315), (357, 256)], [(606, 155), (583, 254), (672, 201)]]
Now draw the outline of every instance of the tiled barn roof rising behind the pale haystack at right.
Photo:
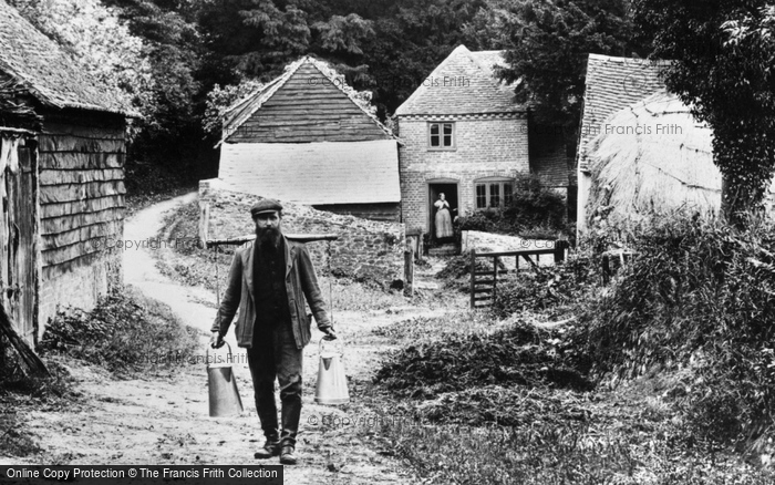
[(659, 70), (664, 65), (666, 61), (589, 54), (577, 154), (579, 169), (589, 169), (588, 145), (601, 133), (607, 117), (664, 89), (659, 79)]

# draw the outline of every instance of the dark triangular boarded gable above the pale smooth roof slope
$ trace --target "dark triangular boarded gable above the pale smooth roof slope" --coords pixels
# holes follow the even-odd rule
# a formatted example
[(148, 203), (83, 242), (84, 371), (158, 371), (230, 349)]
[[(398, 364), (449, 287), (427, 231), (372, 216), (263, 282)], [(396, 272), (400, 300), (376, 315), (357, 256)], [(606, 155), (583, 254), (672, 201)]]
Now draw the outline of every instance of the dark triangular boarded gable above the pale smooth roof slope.
[(309, 143), (390, 138), (314, 65), (304, 63), (227, 141)]

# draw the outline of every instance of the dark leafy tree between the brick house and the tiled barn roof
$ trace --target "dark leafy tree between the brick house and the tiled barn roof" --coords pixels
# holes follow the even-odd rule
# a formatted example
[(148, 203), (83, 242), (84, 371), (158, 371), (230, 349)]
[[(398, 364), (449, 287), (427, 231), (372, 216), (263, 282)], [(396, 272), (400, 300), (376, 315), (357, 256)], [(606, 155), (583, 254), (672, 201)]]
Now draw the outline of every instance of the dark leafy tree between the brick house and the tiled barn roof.
[[(487, 0), (469, 35), (497, 35), (506, 47), (503, 78), (516, 83), (516, 100), (536, 106), (539, 124), (562, 127), (575, 148), (589, 53), (631, 55), (628, 0)], [(493, 31), (499, 25), (502, 33)], [(641, 52), (642, 53), (642, 52)]]

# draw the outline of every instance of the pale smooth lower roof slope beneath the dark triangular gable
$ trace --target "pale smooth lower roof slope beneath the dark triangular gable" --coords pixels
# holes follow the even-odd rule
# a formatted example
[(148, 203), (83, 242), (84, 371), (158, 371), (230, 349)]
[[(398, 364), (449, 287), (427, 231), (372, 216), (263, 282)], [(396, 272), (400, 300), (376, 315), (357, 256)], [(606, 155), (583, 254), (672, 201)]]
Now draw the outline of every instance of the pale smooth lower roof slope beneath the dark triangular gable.
[(401, 200), (395, 140), (224, 143), (218, 178), (235, 192), (306, 205)]

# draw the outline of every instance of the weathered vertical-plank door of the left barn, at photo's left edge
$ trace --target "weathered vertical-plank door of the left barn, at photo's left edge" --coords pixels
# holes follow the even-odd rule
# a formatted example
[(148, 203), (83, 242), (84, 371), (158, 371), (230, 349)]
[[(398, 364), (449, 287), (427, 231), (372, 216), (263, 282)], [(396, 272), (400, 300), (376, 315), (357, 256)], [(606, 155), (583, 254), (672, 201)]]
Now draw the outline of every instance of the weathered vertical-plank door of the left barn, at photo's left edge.
[[(10, 143), (3, 138), (2, 143)], [(31, 347), (38, 330), (37, 159), (33, 141), (19, 141), (18, 171), (6, 167), (2, 182), (2, 302), (17, 324), (17, 332)]]

